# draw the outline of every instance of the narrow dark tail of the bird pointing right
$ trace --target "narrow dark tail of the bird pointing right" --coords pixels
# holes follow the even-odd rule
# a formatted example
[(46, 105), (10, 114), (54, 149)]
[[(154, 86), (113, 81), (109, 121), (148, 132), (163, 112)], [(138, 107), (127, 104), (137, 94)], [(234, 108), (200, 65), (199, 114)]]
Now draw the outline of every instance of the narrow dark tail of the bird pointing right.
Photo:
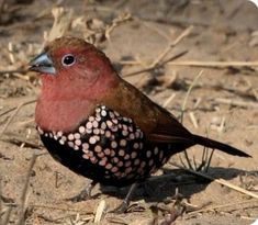
[(202, 136), (199, 136), (199, 135), (193, 135), (193, 139), (198, 145), (203, 145), (205, 147), (213, 148), (213, 149), (216, 148), (218, 150), (231, 154), (233, 156), (251, 157), (250, 155), (248, 155), (248, 154), (246, 154), (246, 153), (244, 153), (244, 151), (242, 151), (237, 148), (234, 148), (229, 145), (226, 145), (226, 144), (223, 144), (223, 143), (220, 143), (220, 142), (216, 142), (216, 140), (213, 140), (213, 139), (209, 139), (206, 137), (202, 137)]

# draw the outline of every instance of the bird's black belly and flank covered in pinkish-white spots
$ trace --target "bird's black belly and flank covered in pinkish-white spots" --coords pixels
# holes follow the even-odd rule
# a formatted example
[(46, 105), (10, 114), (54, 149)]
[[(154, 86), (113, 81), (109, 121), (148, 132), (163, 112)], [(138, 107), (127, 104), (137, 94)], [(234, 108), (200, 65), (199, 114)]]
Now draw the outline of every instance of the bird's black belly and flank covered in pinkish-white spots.
[(72, 132), (37, 128), (57, 161), (106, 185), (124, 187), (142, 181), (177, 153), (170, 144), (148, 143), (131, 119), (103, 105)]

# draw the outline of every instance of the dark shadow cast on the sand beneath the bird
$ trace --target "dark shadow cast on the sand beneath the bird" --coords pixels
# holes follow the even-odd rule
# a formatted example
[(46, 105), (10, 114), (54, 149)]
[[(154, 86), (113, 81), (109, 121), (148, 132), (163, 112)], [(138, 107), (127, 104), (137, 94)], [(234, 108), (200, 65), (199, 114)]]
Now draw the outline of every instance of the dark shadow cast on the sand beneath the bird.
[[(236, 168), (211, 167), (207, 175), (212, 178), (222, 178), (232, 180), (238, 176), (247, 176), (248, 173), (257, 173), (258, 171), (246, 171)], [(202, 192), (212, 182), (202, 177), (197, 177), (180, 169), (166, 169), (166, 176), (150, 178), (149, 181), (139, 183), (135, 190), (132, 201), (144, 199), (146, 202), (161, 202), (175, 195), (176, 189), (184, 198)], [(167, 176), (171, 175), (171, 176)], [(100, 187), (103, 193), (124, 199), (128, 191), (126, 188)], [(99, 194), (97, 194), (99, 195)]]

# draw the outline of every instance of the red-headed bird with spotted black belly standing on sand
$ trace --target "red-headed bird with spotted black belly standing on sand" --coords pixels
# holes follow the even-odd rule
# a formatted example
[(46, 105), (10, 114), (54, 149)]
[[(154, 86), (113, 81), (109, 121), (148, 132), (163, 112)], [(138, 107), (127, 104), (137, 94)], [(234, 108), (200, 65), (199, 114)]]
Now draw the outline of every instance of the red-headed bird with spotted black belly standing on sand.
[(35, 123), (44, 146), (55, 160), (91, 179), (92, 185), (131, 185), (117, 212), (124, 212), (137, 183), (191, 146), (250, 157), (192, 134), (82, 38), (56, 38), (29, 65), (42, 81)]

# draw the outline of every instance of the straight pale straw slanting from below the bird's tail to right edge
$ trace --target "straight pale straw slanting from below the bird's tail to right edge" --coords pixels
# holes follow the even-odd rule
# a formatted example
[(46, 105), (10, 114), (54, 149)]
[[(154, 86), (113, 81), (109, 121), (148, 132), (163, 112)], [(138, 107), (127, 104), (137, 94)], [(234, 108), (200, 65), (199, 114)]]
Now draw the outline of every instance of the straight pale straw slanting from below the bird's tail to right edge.
[(180, 166), (180, 165), (178, 165), (178, 164), (176, 164), (176, 162), (171, 162), (171, 161), (170, 161), (169, 164), (171, 164), (172, 166), (178, 167), (178, 168), (180, 168), (180, 169), (183, 169), (183, 170), (186, 170), (186, 171), (188, 171), (188, 172), (191, 172), (191, 173), (193, 173), (193, 175), (203, 177), (203, 178), (205, 178), (205, 179), (207, 179), (207, 180), (215, 181), (216, 183), (220, 183), (220, 184), (222, 184), (222, 185), (225, 185), (225, 187), (227, 187), (227, 188), (229, 188), (229, 189), (233, 189), (233, 190), (235, 190), (235, 191), (237, 191), (237, 192), (244, 193), (244, 194), (246, 194), (246, 195), (248, 195), (248, 196), (253, 196), (253, 198), (255, 198), (255, 199), (258, 199), (258, 195), (257, 195), (257, 194), (255, 194), (255, 193), (253, 193), (253, 192), (250, 192), (250, 191), (247, 191), (247, 190), (245, 190), (245, 189), (243, 189), (243, 188), (240, 188), (240, 187), (237, 187), (237, 185), (235, 185), (235, 184), (233, 184), (233, 183), (229, 183), (229, 182), (227, 182), (226, 180), (224, 180), (224, 179), (222, 179), (222, 178), (220, 178), (220, 179), (212, 178), (212, 177), (210, 177), (209, 175), (204, 175), (204, 173), (202, 173), (202, 172), (198, 172), (198, 171), (194, 171), (194, 170), (192, 170), (192, 169), (184, 168), (184, 167), (182, 167), (182, 166)]

